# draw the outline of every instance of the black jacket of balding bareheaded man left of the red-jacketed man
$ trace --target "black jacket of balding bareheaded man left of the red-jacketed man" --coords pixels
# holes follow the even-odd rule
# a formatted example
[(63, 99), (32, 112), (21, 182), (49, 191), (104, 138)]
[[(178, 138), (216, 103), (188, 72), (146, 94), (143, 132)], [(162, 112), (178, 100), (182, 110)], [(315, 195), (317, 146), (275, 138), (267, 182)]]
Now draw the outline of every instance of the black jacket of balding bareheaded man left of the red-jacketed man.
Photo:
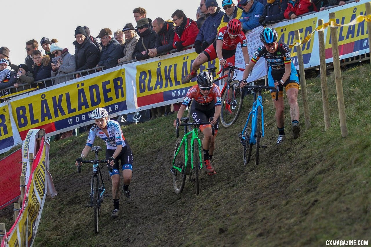
[(170, 50), (173, 50), (175, 35), (175, 26), (172, 22), (166, 22), (160, 32), (157, 34), (155, 48), (157, 54), (167, 53)]

